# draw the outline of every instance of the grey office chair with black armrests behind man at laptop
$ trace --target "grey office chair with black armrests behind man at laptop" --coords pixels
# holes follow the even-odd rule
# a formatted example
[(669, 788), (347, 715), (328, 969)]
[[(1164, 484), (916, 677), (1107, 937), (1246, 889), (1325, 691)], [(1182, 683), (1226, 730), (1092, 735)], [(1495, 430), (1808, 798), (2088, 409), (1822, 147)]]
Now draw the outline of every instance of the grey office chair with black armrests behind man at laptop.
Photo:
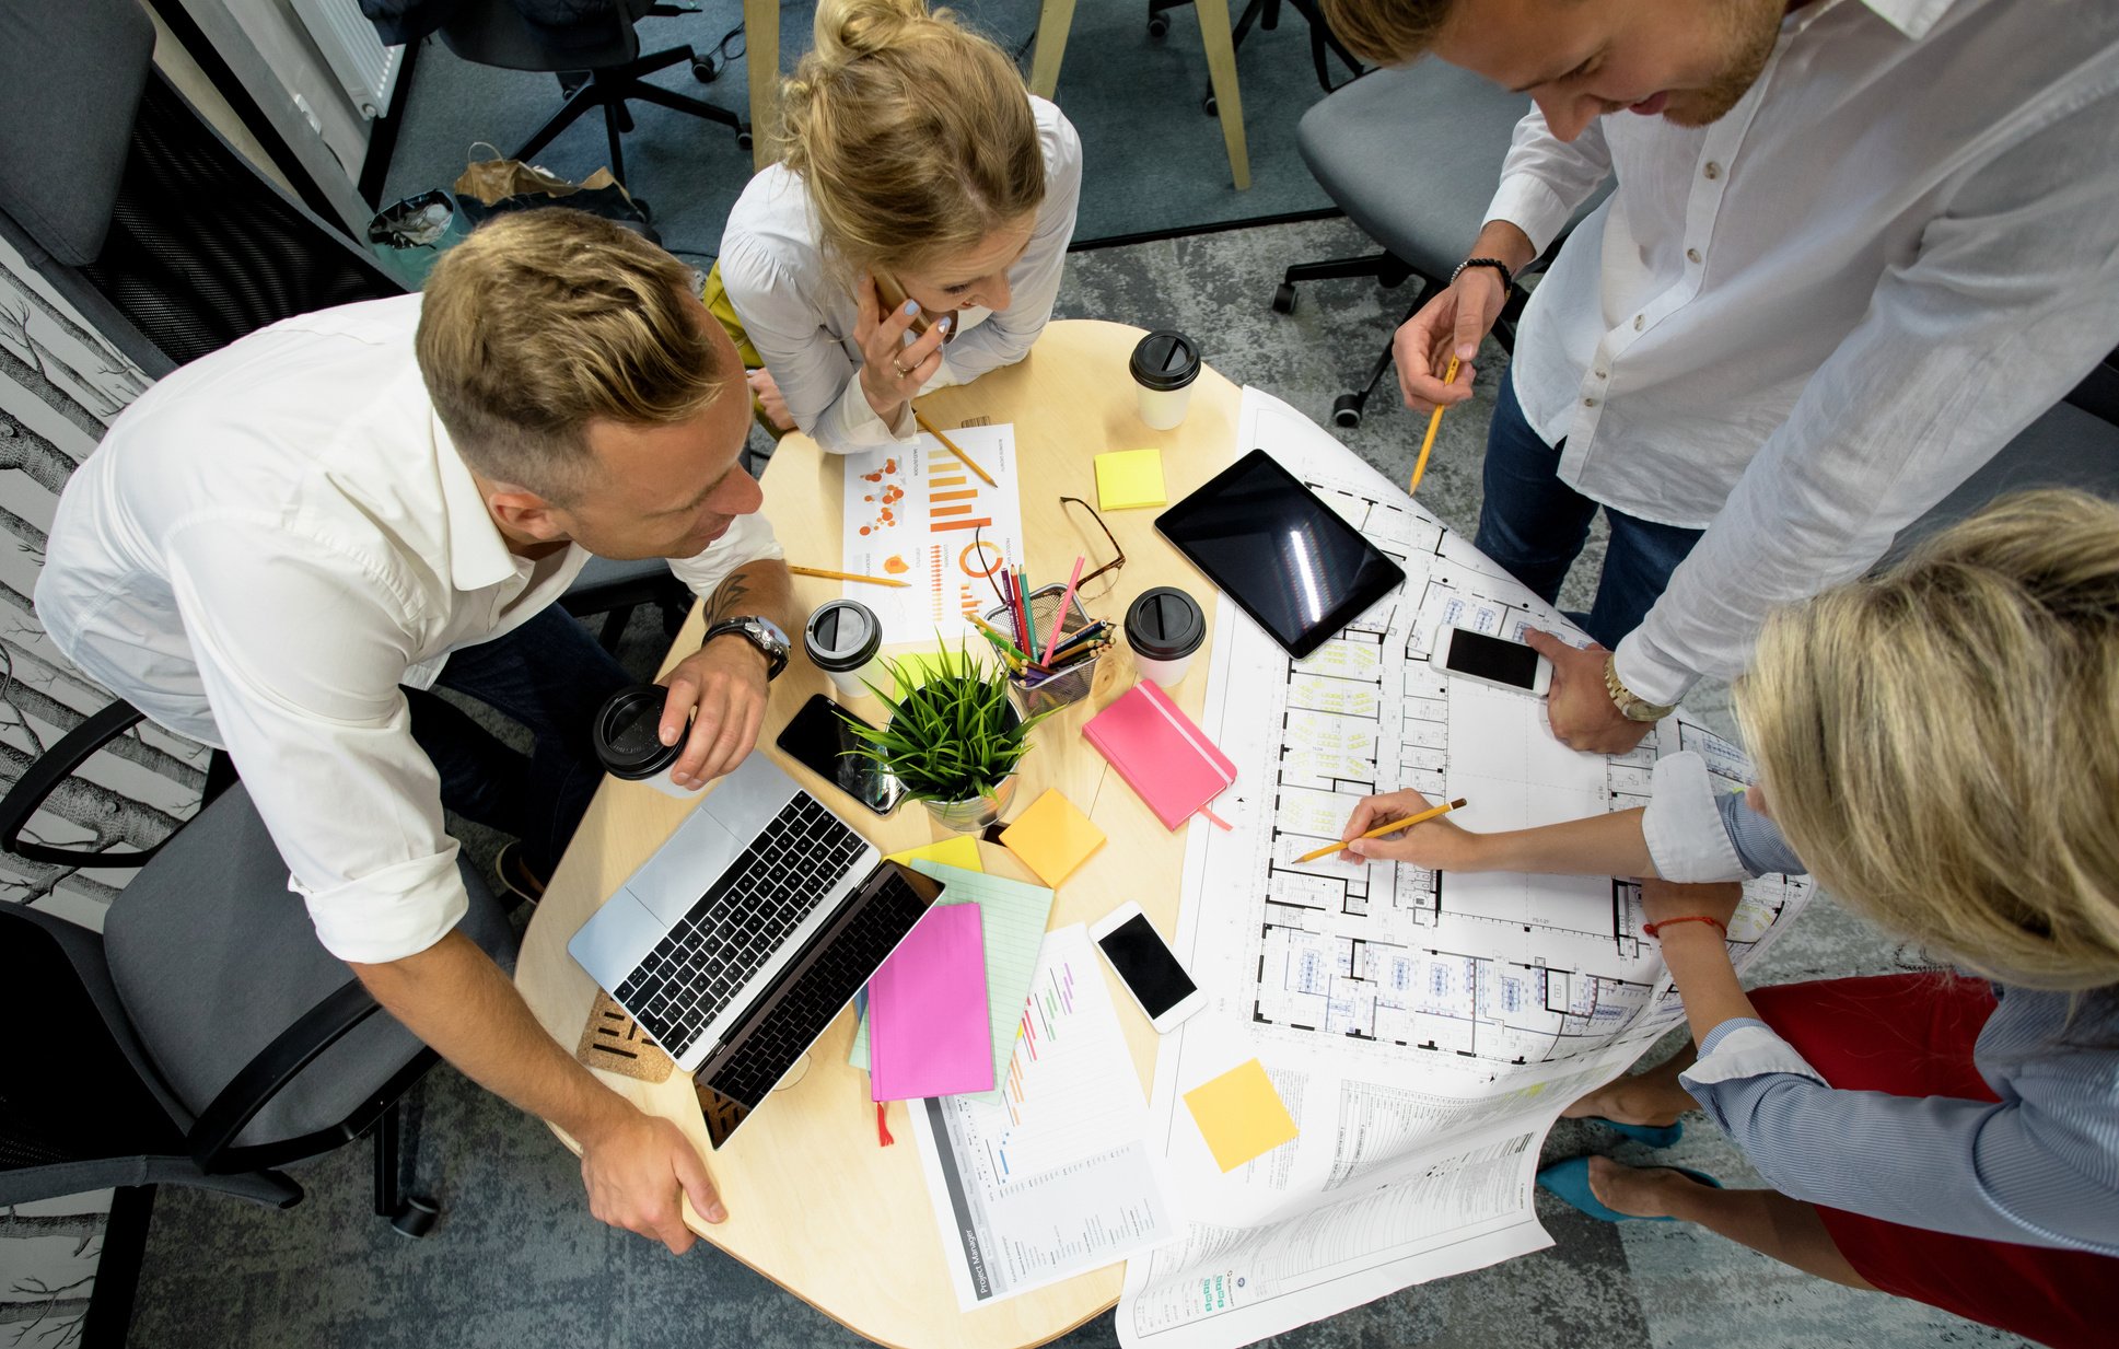
[[(0, 1205), (167, 1182), (284, 1209), (303, 1192), (278, 1167), (369, 1135), (375, 1211), (426, 1235), (437, 1209), (405, 1192), (400, 1099), (437, 1055), (316, 940), (248, 792), (142, 851), (28, 837), (53, 792), (100, 790), (76, 769), (138, 722), (104, 707), (0, 798), (0, 849), (28, 870), (138, 868), (102, 936), (0, 904), (0, 1014), (25, 1036), (0, 1067)], [(506, 913), (458, 870), (460, 930), (513, 966)]]

